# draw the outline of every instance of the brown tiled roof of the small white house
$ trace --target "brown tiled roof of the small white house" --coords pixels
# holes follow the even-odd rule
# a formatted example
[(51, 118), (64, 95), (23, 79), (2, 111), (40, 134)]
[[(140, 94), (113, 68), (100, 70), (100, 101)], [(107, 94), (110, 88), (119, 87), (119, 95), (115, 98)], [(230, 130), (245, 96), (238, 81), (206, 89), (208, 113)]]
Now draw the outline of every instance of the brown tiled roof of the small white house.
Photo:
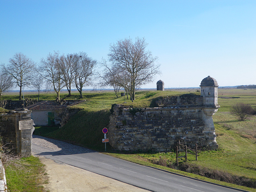
[(36, 104), (26, 106), (29, 110), (52, 110), (52, 109), (66, 109), (67, 106), (51, 102), (51, 101), (41, 101)]

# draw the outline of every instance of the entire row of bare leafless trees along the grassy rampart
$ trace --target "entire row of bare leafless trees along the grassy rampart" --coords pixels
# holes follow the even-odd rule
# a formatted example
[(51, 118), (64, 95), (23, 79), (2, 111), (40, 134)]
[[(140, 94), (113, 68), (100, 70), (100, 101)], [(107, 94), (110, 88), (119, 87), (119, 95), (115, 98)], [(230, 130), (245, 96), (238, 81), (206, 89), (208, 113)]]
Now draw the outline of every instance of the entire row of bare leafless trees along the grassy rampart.
[[(14, 87), (20, 90), (19, 100), (22, 98), (22, 88), (35, 88), (39, 94), (43, 86), (53, 89), (57, 98), (60, 91), (66, 87), (68, 96), (71, 96), (71, 88), (76, 87), (83, 98), (82, 90), (92, 83), (100, 87), (112, 86), (118, 97), (118, 92), (124, 88), (127, 97), (135, 100), (135, 90), (143, 84), (152, 82), (154, 76), (159, 74), (158, 58), (146, 50), (147, 43), (144, 38), (131, 38), (118, 40), (110, 44), (108, 60), (98, 62), (90, 58), (86, 52), (73, 54), (49, 53), (38, 64), (26, 55), (14, 54), (7, 65), (0, 66), (0, 100), (1, 95)], [(103, 68), (96, 72), (96, 66)]]

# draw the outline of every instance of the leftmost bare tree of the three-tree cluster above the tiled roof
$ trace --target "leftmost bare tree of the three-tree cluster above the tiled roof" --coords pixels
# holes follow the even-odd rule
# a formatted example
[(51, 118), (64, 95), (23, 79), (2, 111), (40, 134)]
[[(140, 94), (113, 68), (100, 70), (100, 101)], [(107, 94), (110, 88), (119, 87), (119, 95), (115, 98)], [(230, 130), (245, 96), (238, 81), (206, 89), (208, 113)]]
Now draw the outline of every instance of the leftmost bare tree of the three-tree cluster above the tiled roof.
[(57, 94), (57, 98), (60, 98), (60, 90), (66, 86), (64, 74), (61, 70), (63, 59), (63, 56), (60, 56), (58, 52), (54, 52), (54, 54), (49, 53), (46, 59), (41, 59), (41, 65), (39, 67), (40, 75), (46, 80), (46, 86), (53, 88)]

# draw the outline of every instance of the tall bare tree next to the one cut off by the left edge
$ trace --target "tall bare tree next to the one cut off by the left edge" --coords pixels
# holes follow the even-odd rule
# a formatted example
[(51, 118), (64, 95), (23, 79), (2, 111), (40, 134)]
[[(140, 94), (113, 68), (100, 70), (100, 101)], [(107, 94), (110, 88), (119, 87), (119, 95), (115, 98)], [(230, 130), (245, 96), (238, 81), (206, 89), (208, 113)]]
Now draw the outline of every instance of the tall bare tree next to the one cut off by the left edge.
[(28, 86), (32, 80), (35, 63), (22, 53), (16, 53), (10, 58), (9, 65), (3, 67), (4, 74), (12, 76), (13, 83), (20, 88), (21, 100), (22, 86)]

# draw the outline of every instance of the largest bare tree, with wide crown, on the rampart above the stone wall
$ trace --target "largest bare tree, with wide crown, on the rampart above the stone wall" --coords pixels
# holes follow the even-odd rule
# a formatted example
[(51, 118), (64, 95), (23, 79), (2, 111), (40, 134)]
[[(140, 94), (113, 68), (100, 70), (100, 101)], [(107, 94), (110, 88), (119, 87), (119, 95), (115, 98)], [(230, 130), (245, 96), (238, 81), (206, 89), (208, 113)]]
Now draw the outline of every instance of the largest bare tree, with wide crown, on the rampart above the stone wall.
[[(154, 76), (159, 74), (156, 64), (158, 57), (153, 57), (151, 52), (146, 50), (148, 44), (145, 39), (136, 38), (119, 40), (116, 44), (110, 45), (109, 61), (113, 68), (118, 68), (127, 76), (127, 92), (131, 100), (135, 100), (135, 90), (143, 84), (152, 82)], [(112, 68), (110, 67), (110, 68)]]

